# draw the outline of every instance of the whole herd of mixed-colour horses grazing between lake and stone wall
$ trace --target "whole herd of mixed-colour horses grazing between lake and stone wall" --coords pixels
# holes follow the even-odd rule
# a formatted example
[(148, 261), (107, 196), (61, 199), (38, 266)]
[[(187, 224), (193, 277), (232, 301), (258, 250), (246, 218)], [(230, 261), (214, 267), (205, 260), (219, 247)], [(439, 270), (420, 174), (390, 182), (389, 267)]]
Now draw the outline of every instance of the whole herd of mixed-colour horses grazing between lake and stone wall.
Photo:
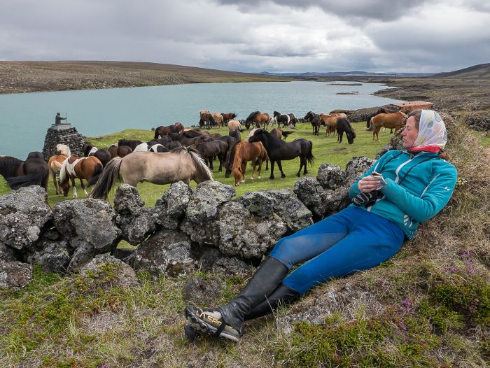
[[(133, 186), (144, 181), (167, 184), (212, 180), (216, 159), (219, 162), (218, 171), (225, 167), (225, 177), (233, 174), (235, 185), (245, 181), (248, 162), (251, 162), (253, 169), (251, 180), (255, 178), (255, 171), (258, 171), (260, 178), (263, 162), (266, 162), (265, 170), (269, 169), (269, 161), (269, 179), (274, 179), (276, 163), (281, 178), (285, 178), (281, 162), (297, 157), (300, 158), (300, 167), (296, 176), (299, 177), (301, 171), (303, 175), (308, 174), (307, 166), (311, 167), (314, 162), (313, 143), (304, 138), (285, 141), (293, 132), (283, 129), (295, 127), (298, 122), (295, 115), (274, 111), (271, 119), (267, 113), (253, 111), (244, 122), (245, 128), (239, 120), (235, 120), (236, 117), (235, 113), (200, 111), (200, 127), (221, 127), (226, 122), (228, 136), (211, 134), (208, 129), (186, 129), (176, 122), (155, 128), (152, 141), (120, 139), (108, 149), (86, 144), (83, 157), (72, 155), (69, 146), (64, 144), (56, 146), (57, 155), (50, 157), (47, 163), (40, 152), (29, 153), (25, 161), (3, 156), (0, 157), (0, 174), (13, 190), (41, 185), (47, 191), (51, 176), (56, 194), (66, 197), (70, 187), (73, 187), (74, 198), (78, 197), (75, 186), (78, 178), (85, 195), (89, 196), (83, 181), (87, 181), (87, 187), (93, 186), (90, 197), (99, 199), (107, 199), (118, 177), (123, 183)], [(401, 111), (391, 112), (381, 108), (367, 119), (366, 130), (372, 131), (373, 141), (379, 141), (381, 127), (400, 129), (406, 119), (407, 115)], [(322, 126), (326, 128), (326, 136), (337, 134), (339, 143), (342, 143), (344, 133), (349, 144), (356, 138), (356, 132), (344, 113), (316, 114), (309, 111), (302, 121), (311, 123), (314, 135), (319, 134)], [(267, 130), (269, 124), (273, 127), (270, 132)], [(251, 127), (254, 129), (248, 139), (242, 140), (240, 133)]]

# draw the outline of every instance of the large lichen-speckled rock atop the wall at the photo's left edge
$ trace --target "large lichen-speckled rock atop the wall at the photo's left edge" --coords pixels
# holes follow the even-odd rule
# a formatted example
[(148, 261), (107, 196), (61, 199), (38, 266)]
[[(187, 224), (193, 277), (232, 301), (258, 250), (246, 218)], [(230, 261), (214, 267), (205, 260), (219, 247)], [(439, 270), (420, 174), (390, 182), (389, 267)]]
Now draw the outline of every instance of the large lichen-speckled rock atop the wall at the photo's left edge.
[(38, 186), (21, 187), (0, 197), (0, 242), (15, 249), (29, 248), (48, 227), (52, 211), (48, 194)]

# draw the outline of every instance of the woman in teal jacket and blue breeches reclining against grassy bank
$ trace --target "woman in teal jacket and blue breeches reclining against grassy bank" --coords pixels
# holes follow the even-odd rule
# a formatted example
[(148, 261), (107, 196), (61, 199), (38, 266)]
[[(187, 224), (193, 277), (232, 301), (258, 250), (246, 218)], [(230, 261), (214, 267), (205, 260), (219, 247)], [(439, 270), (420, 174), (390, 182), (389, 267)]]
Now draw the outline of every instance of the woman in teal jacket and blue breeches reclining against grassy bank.
[[(406, 150), (388, 151), (353, 183), (349, 207), (280, 239), (235, 299), (214, 309), (188, 306), (186, 335), (238, 341), (244, 320), (290, 304), (329, 278), (393, 257), (405, 237), (413, 239), (420, 222), (447, 204), (457, 177), (456, 168), (442, 158), (447, 132), (435, 111), (412, 111), (402, 142)], [(298, 262), (304, 264), (288, 274)]]

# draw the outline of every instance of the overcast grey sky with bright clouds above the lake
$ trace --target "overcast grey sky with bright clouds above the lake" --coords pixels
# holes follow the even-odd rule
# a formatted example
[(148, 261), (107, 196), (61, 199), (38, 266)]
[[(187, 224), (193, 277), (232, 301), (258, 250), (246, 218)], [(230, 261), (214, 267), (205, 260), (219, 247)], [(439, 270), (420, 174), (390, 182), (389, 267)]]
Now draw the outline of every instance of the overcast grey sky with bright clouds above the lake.
[(438, 72), (490, 62), (488, 0), (0, 0), (0, 60)]

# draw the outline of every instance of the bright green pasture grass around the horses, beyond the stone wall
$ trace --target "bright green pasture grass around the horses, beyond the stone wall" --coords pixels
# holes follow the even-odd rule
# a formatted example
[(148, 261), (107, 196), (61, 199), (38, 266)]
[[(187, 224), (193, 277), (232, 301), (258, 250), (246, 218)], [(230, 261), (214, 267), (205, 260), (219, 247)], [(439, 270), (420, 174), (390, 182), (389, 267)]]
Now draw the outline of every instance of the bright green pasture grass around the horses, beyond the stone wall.
[[(315, 156), (315, 161), (313, 166), (308, 167), (308, 176), (316, 176), (318, 172), (318, 167), (323, 162), (328, 162), (329, 164), (339, 165), (342, 169), (345, 169), (345, 165), (353, 156), (367, 156), (374, 158), (379, 150), (388, 143), (391, 134), (380, 134), (379, 139), (381, 143), (372, 141), (372, 133), (365, 132), (365, 122), (354, 123), (354, 129), (356, 129), (357, 137), (354, 143), (349, 145), (347, 139), (344, 136), (344, 141), (342, 143), (337, 143), (335, 136), (325, 136), (325, 129), (322, 129), (319, 136), (313, 136), (311, 134), (311, 125), (300, 124), (297, 130), (288, 137), (287, 141), (293, 141), (296, 138), (306, 138), (313, 142), (313, 155)], [(290, 129), (286, 129), (290, 130)], [(212, 129), (213, 133), (220, 133), (223, 135), (228, 135), (228, 128)], [(248, 132), (243, 132), (241, 134), (242, 139), (248, 136)], [(117, 143), (119, 139), (139, 139), (141, 141), (149, 141), (153, 139), (153, 132), (151, 130), (138, 130), (138, 129), (125, 129), (122, 132), (117, 132), (109, 134), (106, 136), (96, 136), (87, 138), (87, 143), (92, 143), (98, 148), (108, 148), (112, 143)], [(300, 160), (296, 158), (295, 160), (283, 161), (283, 171), (286, 174), (286, 178), (281, 179), (281, 173), (276, 165), (274, 168), (274, 180), (269, 180), (270, 171), (265, 171), (265, 165), (262, 167), (262, 176), (260, 179), (256, 178), (255, 181), (251, 181), (249, 178), (251, 176), (251, 165), (248, 164), (246, 171), (246, 182), (242, 183), (238, 187), (235, 187), (237, 196), (244, 194), (245, 192), (253, 192), (255, 190), (267, 190), (267, 189), (283, 189), (289, 188), (293, 189), (297, 177), (295, 176), (297, 170), (300, 167)], [(214, 180), (220, 181), (221, 183), (228, 185), (235, 185), (235, 178), (230, 176), (230, 178), (225, 178), (225, 171), (218, 172), (218, 162), (214, 163), (213, 170)], [(85, 194), (80, 189), (80, 183), (76, 181), (78, 198), (84, 198)], [(116, 185), (117, 186), (117, 185)], [(192, 182), (191, 187), (195, 187), (196, 183)], [(167, 190), (169, 185), (155, 185), (152, 183), (139, 183), (137, 188), (141, 195), (141, 198), (145, 201), (146, 206), (155, 206), (155, 201), (162, 196), (162, 193)], [(114, 198), (114, 192), (116, 188), (113, 188), (109, 194), (109, 201), (112, 203)], [(8, 186), (5, 181), (0, 183), (0, 194), (5, 194), (9, 192)], [(90, 190), (89, 190), (90, 192)], [(59, 201), (64, 201), (66, 199), (71, 199), (72, 191), (70, 190), (68, 197), (63, 197), (62, 194), (55, 194), (55, 187), (50, 180), (48, 185), (48, 202), (51, 206), (54, 206)]]

